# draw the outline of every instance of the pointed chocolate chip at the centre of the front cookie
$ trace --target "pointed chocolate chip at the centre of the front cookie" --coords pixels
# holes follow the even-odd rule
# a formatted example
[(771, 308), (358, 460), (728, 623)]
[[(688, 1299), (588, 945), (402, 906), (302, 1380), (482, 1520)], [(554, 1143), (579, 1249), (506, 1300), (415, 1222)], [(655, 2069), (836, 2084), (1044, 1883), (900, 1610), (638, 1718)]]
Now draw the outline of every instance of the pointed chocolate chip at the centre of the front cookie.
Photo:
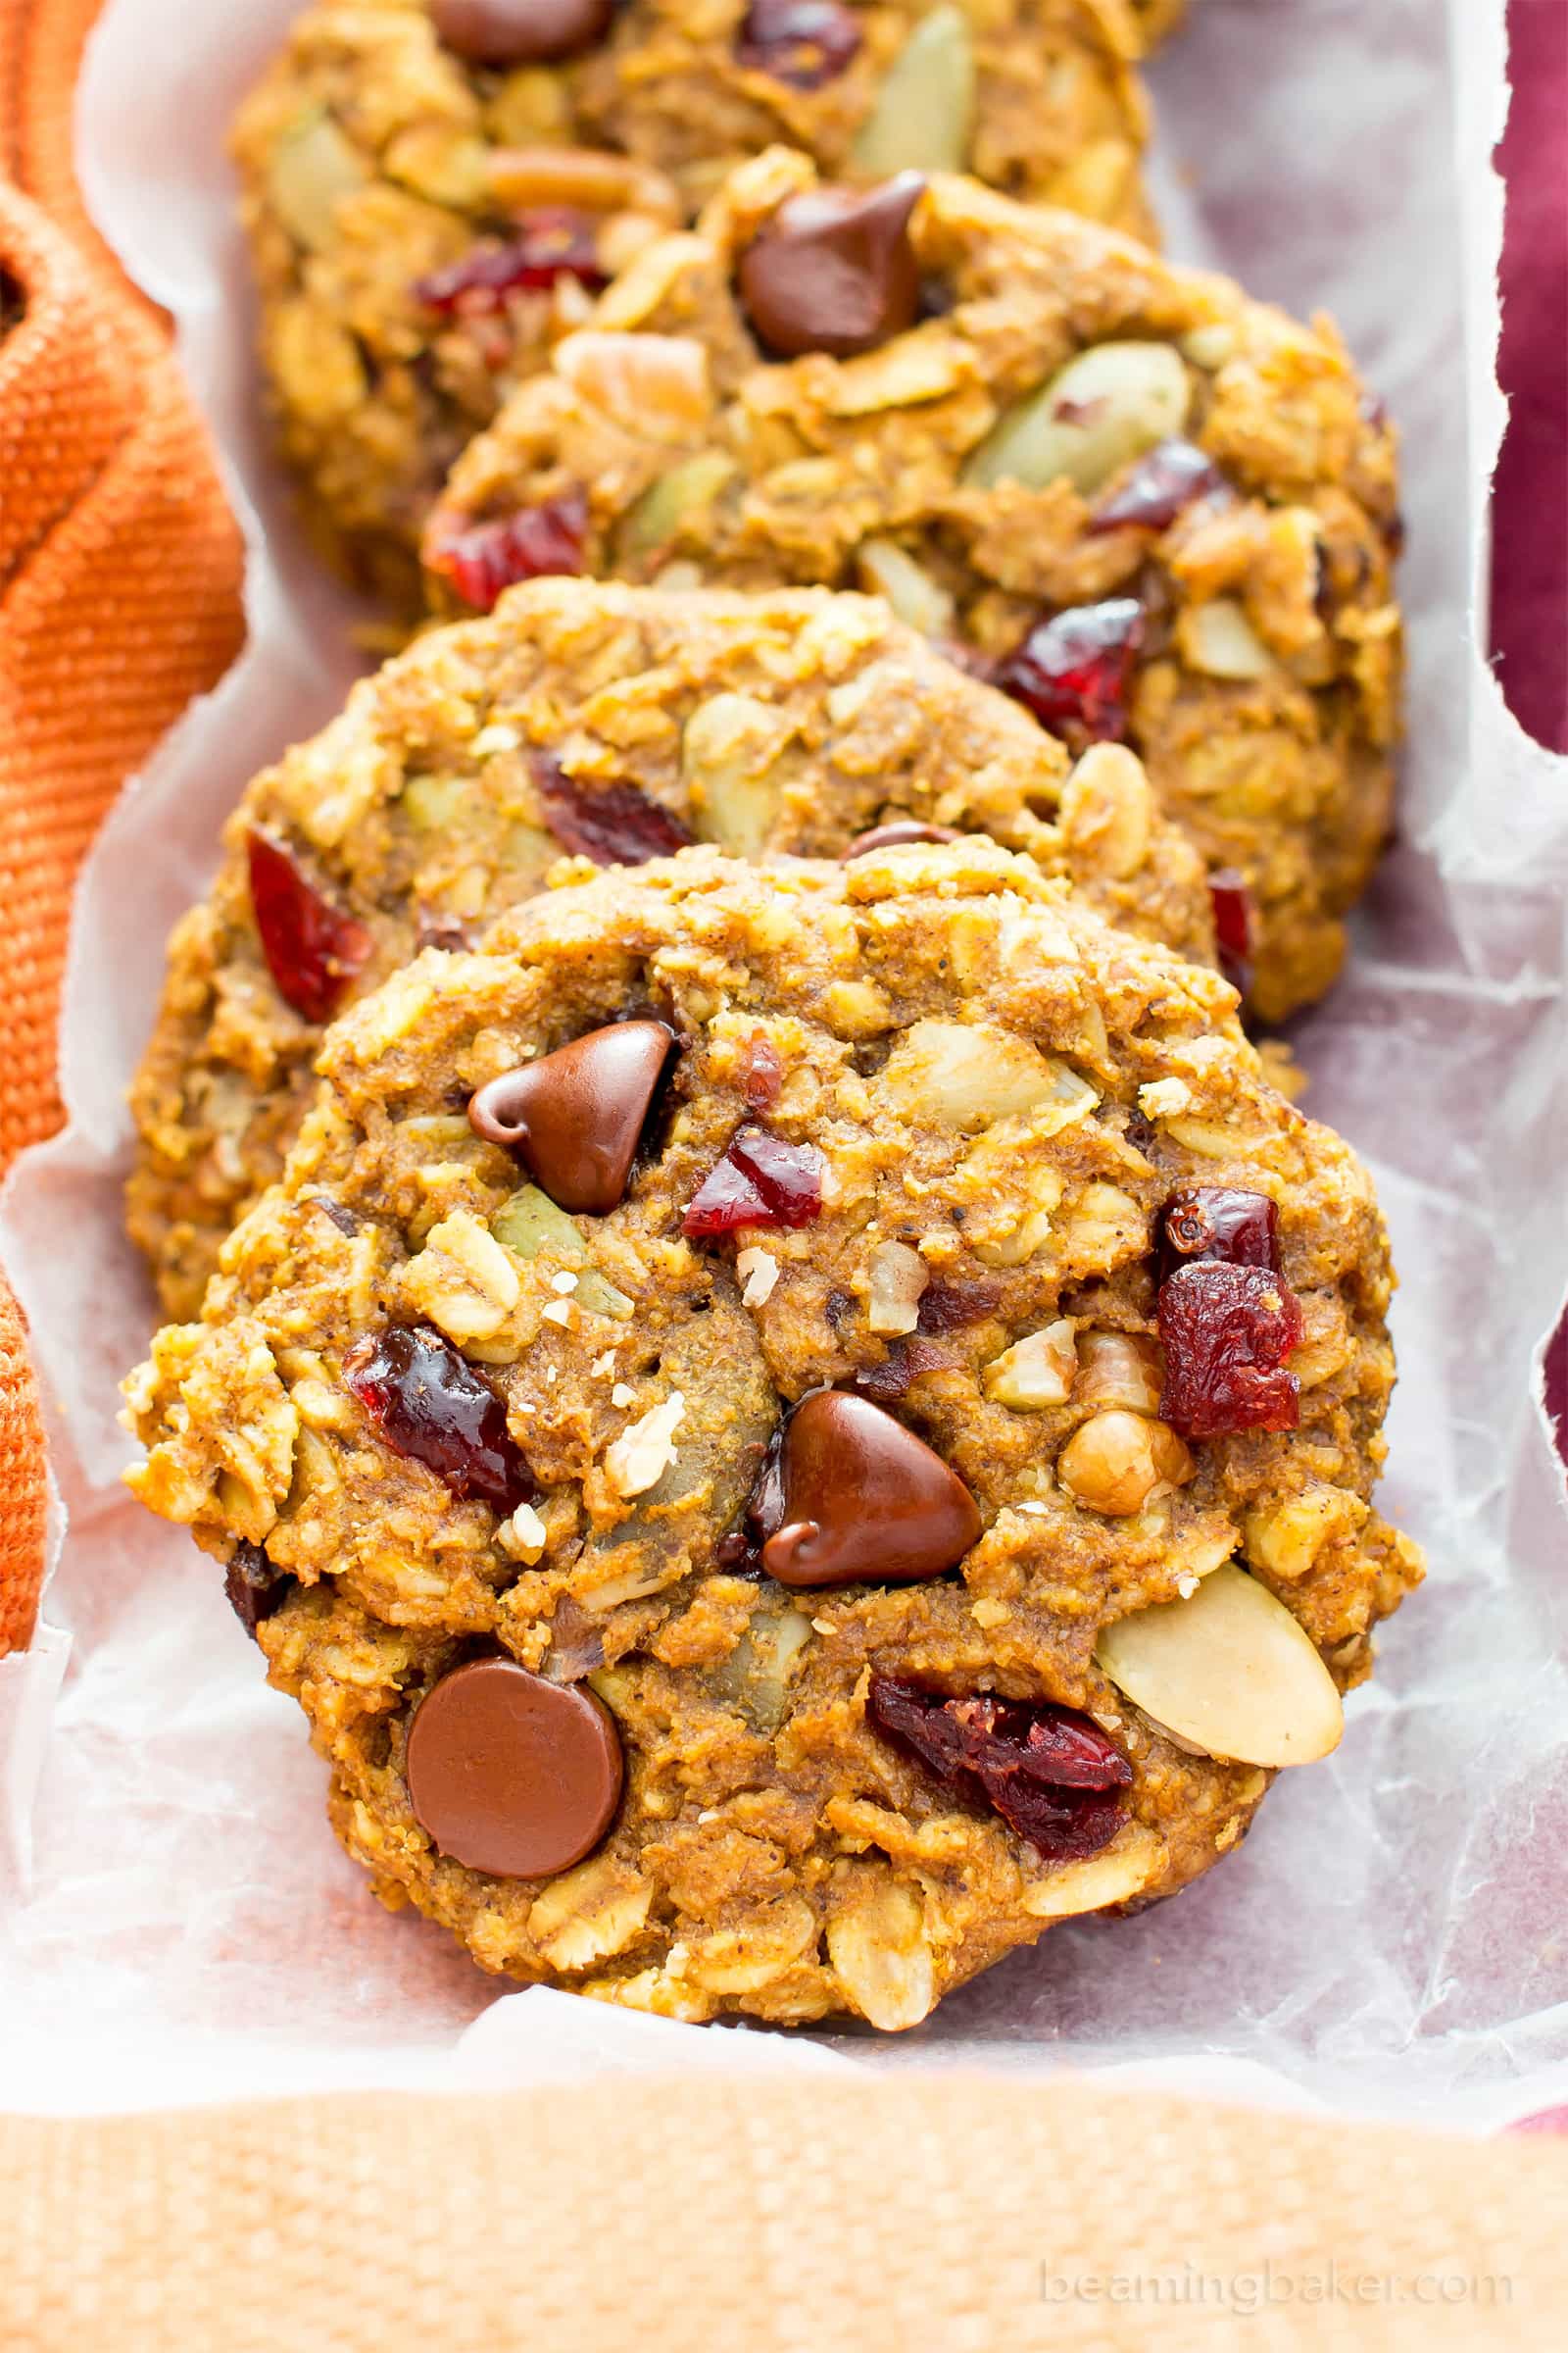
[(778, 1461), (783, 1525), (762, 1548), (780, 1586), (907, 1586), (957, 1567), (980, 1534), (976, 1499), (900, 1421), (818, 1388)]

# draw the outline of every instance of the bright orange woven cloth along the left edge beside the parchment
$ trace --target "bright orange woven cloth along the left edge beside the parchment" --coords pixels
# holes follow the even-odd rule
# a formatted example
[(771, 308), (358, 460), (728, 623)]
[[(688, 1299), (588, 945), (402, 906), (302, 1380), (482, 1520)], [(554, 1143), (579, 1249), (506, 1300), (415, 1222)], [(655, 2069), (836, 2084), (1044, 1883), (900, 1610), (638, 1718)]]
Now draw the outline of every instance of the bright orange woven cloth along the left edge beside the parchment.
[[(99, 0), (0, 0), (0, 1172), (59, 1125), (82, 854), (240, 647), (242, 551), (150, 306), (87, 226), (71, 104)], [(19, 315), (16, 315), (19, 313)], [(38, 1398), (0, 1301), (0, 1652), (42, 1574)]]

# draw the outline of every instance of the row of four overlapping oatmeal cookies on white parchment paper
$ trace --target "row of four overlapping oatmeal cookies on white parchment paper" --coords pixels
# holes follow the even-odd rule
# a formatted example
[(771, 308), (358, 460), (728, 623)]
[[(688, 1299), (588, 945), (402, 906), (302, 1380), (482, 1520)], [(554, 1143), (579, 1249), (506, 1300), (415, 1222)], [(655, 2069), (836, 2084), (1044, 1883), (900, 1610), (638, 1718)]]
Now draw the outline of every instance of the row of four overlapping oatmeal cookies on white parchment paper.
[(1394, 435), (1159, 259), (1161, 0), (317, 0), (235, 153), (407, 652), (134, 1087), (188, 1525), (390, 1904), (917, 2026), (1171, 1894), (1420, 1579), (1276, 1080), (1389, 826)]

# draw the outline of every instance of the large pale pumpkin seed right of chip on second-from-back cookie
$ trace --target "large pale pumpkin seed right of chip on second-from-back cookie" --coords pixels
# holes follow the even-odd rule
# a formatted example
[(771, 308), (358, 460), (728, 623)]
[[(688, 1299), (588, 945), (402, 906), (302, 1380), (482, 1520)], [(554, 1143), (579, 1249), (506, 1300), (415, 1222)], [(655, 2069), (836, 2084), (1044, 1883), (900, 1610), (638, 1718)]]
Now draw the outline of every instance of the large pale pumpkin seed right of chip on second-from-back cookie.
[(1088, 496), (1187, 424), (1192, 376), (1171, 344), (1091, 344), (1009, 409), (964, 468), (976, 489), (1072, 482)]

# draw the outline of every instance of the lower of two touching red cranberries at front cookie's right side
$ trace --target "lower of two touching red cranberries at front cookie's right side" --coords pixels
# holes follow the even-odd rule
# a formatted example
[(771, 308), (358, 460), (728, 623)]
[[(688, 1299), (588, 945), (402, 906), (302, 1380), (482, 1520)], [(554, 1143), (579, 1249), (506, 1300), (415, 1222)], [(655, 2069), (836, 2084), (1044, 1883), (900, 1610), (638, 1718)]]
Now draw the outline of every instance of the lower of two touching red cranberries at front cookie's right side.
[(1272, 1268), (1225, 1259), (1178, 1266), (1159, 1285), (1159, 1419), (1182, 1438), (1293, 1431), (1300, 1384), (1284, 1362), (1300, 1337), (1300, 1299)]

